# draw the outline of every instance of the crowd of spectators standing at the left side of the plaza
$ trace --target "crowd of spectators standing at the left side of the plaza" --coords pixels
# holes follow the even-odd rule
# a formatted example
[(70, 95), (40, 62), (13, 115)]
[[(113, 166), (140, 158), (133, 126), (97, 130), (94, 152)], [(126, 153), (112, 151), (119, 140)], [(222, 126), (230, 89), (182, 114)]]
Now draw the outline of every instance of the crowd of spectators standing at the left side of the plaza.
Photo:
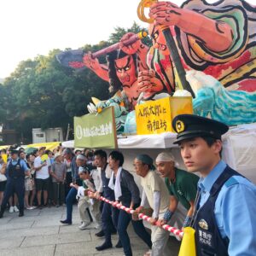
[[(3, 203), (3, 195), (9, 193), (8, 202), (4, 208), (9, 205), (9, 212), (20, 212), (20, 217), (24, 214), (24, 208), (33, 210), (64, 205), (70, 189), (69, 184), (73, 182), (72, 160), (75, 159), (76, 154), (84, 154), (84, 151), (77, 149), (73, 152), (61, 146), (53, 151), (41, 147), (28, 154), (24, 148), (2, 149), (0, 172), (6, 178), (0, 180), (0, 205)], [(90, 150), (85, 154), (90, 161), (92, 156)], [(16, 172), (10, 170), (7, 172), (9, 163), (15, 166)], [(18, 167), (20, 170), (17, 169)], [(12, 177), (15, 182), (9, 186), (8, 179)], [(23, 201), (23, 204), (18, 199)]]

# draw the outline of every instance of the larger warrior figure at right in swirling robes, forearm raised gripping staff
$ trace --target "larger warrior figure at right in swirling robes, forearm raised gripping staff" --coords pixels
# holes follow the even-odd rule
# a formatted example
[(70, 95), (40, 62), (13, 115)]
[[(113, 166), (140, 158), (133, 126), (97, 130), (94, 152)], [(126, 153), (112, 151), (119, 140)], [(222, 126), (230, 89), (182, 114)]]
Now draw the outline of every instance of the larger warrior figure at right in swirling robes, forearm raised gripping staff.
[[(154, 3), (149, 12), (154, 23), (149, 34), (154, 45), (148, 67), (162, 84), (176, 90), (175, 67), (161, 32), (168, 26), (175, 38), (185, 70), (203, 71), (229, 90), (256, 90), (256, 8), (241, 0), (208, 4), (189, 0), (182, 7), (170, 2)], [(140, 83), (150, 79), (142, 75)]]

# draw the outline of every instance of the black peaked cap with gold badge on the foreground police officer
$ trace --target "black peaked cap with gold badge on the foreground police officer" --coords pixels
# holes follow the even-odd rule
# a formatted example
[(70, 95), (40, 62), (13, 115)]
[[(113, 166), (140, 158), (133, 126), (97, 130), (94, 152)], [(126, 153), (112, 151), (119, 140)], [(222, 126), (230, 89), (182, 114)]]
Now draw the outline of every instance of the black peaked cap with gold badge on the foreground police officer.
[(179, 114), (172, 120), (172, 128), (177, 132), (174, 144), (194, 137), (221, 136), (229, 130), (229, 126), (214, 119), (207, 119), (195, 114)]

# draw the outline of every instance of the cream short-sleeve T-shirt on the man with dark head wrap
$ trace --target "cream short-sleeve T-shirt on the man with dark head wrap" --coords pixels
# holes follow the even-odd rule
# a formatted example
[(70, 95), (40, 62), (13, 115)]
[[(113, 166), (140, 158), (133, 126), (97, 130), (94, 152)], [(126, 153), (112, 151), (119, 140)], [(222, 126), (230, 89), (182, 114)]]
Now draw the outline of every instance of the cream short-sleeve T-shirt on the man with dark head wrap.
[(166, 212), (170, 204), (170, 195), (163, 179), (156, 172), (149, 171), (146, 177), (142, 177), (142, 186), (152, 209), (154, 209), (154, 191), (160, 191), (160, 213)]

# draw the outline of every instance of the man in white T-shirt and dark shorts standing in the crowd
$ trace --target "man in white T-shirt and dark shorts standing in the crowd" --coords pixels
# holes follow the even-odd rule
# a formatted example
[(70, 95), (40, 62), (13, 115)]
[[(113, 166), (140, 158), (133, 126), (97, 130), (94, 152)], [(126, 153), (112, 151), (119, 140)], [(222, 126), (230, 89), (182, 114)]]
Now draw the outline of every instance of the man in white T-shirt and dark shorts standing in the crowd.
[(38, 198), (38, 207), (42, 209), (41, 195), (43, 191), (44, 195), (44, 207), (47, 206), (48, 192), (49, 192), (49, 172), (50, 172), (50, 160), (47, 154), (45, 159), (42, 158), (44, 155), (45, 147), (41, 147), (38, 150), (38, 156), (34, 160), (34, 168), (36, 171), (36, 189)]

